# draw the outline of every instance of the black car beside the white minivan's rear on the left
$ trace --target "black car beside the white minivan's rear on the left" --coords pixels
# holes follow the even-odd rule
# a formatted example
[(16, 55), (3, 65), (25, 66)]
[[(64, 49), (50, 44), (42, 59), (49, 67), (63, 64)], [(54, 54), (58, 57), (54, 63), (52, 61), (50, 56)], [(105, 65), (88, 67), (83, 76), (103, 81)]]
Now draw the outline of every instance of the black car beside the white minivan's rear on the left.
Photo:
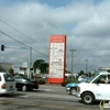
[(23, 75), (14, 76), (16, 81), (16, 89), (22, 91), (38, 89), (38, 82), (36, 80), (30, 79)]

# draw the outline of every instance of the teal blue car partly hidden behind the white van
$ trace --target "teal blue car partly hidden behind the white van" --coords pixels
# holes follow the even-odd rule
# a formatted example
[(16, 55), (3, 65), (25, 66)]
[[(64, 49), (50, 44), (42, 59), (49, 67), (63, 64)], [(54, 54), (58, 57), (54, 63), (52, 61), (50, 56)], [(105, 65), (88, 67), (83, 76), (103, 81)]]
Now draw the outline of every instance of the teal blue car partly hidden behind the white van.
[(66, 85), (66, 91), (67, 91), (69, 95), (75, 95), (75, 94), (76, 94), (76, 90), (77, 90), (78, 84), (79, 84), (79, 82), (82, 82), (82, 81), (88, 81), (89, 79), (90, 79), (90, 77), (86, 77), (86, 78), (84, 78), (81, 81), (67, 84), (67, 85)]

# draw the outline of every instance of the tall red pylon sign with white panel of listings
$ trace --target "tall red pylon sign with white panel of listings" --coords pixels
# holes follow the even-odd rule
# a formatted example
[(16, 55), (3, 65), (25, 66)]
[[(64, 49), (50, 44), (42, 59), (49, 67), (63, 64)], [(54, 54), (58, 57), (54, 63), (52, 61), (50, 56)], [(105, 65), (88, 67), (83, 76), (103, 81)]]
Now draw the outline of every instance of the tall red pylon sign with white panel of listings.
[(51, 35), (48, 82), (62, 84), (66, 70), (66, 35)]

